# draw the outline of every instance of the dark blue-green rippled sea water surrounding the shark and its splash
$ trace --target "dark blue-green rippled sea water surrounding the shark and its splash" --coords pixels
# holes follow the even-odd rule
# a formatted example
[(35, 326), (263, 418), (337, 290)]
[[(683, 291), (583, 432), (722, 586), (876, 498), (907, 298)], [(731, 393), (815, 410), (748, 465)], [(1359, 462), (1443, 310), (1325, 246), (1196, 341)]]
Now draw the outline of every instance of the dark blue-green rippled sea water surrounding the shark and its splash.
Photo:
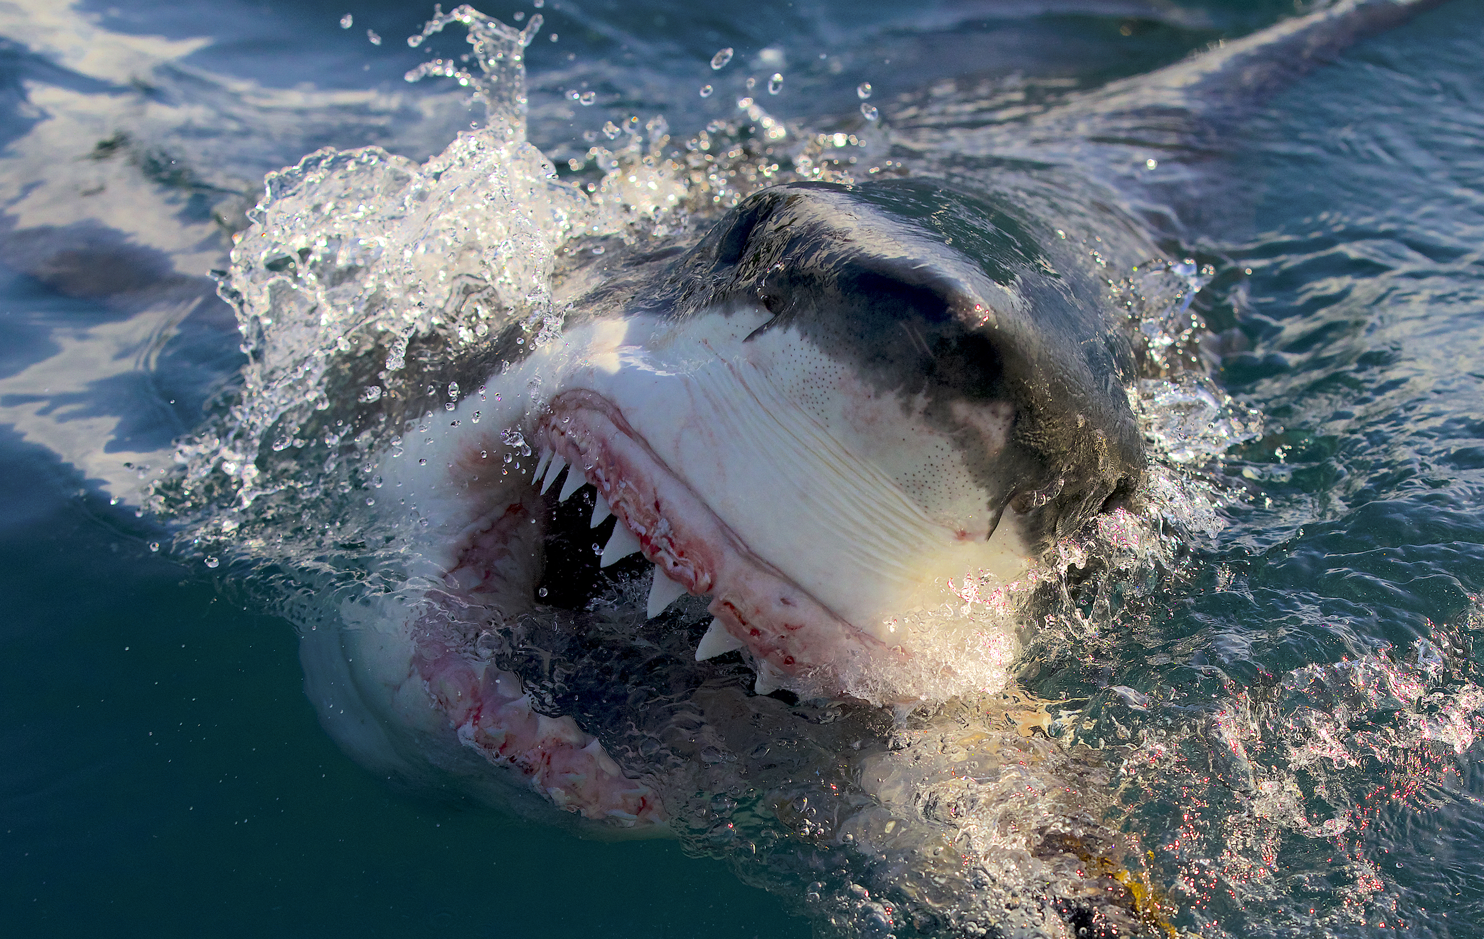
[[(978, 172), (1042, 105), (1296, 13), (482, 9), (543, 18), (524, 62), (527, 136), (579, 181), (603, 177), (591, 147), (617, 148), (607, 122), (663, 114), (692, 139), (738, 120), (739, 96), (794, 138), (887, 135), (896, 150), (861, 148), (865, 162)], [(264, 601), (273, 574), (205, 537), (200, 515), (139, 510), (178, 442), (242, 393), (243, 337), (208, 271), (229, 268), (263, 177), (319, 147), (424, 160), (487, 123), (467, 89), (404, 79), (463, 49), (453, 28), (408, 46), (430, 15), (0, 7), (7, 935), (828, 935), (804, 881), (746, 886), (726, 851), (580, 838), (362, 770), (304, 694), (303, 625)], [(733, 59), (711, 68), (724, 47)], [(1088, 168), (1192, 220), (1162, 248), (1209, 266), (1195, 309), (1229, 331), (1215, 387), (1261, 427), (1186, 460), (1189, 399), (1146, 390), (1171, 472), (1220, 492), (1220, 524), (1184, 525), (1169, 562), (1141, 568), (1149, 583), (1086, 602), (1020, 671), (1116, 755), (1117, 823), (1149, 849), (1181, 930), (1478, 935), (1480, 61), (1484, 7), (1457, 0), (1298, 77), (1198, 160), (1152, 145), (1147, 169)]]

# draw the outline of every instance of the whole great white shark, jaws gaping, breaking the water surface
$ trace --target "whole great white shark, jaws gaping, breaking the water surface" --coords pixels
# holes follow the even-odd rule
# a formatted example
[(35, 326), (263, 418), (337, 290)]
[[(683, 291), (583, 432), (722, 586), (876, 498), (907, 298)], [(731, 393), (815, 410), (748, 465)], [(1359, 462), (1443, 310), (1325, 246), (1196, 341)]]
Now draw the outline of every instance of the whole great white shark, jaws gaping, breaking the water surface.
[[(1020, 131), (1178, 153), (1416, 6), (1339, 4)], [(1128, 273), (1174, 277), (1195, 337), (1192, 282), (1150, 267), (1184, 231), (1037, 145), (570, 254), (559, 332), (491, 335), (478, 393), (368, 455), (401, 586), (306, 632), (326, 727), (389, 774), (677, 834), (849, 935), (1168, 930), (1101, 757), (1009, 685), (1020, 605), (982, 601), (1132, 524), (1128, 389), (1171, 359)]]

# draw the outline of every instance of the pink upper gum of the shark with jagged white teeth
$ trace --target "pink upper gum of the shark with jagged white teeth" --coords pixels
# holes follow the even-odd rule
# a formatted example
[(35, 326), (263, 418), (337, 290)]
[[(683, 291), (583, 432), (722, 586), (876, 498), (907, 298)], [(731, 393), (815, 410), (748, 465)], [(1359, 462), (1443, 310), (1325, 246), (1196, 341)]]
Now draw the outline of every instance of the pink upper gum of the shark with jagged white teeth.
[(604, 396), (580, 389), (555, 396), (537, 423), (536, 442), (543, 451), (536, 467), (543, 491), (570, 467), (561, 494), (592, 484), (594, 524), (617, 516), (604, 562), (640, 550), (654, 564), (650, 616), (681, 592), (712, 596), (715, 620), (697, 659), (746, 647), (766, 693), (778, 673), (828, 685), (831, 673), (864, 656), (904, 654), (758, 558)]

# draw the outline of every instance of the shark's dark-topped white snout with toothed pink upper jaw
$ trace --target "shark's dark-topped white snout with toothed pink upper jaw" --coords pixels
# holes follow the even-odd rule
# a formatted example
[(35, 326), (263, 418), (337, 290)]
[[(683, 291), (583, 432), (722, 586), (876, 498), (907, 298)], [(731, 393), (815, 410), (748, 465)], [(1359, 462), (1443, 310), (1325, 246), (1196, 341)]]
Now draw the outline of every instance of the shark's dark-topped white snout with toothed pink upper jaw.
[(534, 487), (482, 473), (490, 432), (451, 421), (424, 481), (462, 506), (433, 513), (441, 568), (528, 601), (536, 492), (591, 484), (591, 524), (616, 516), (603, 561), (656, 567), (651, 616), (711, 598), (697, 657), (862, 694), (849, 675), (917, 654), (905, 613), (1014, 580), (1138, 487), (1128, 343), (1079, 252), (936, 182), (758, 193), (488, 383), (540, 449)]

